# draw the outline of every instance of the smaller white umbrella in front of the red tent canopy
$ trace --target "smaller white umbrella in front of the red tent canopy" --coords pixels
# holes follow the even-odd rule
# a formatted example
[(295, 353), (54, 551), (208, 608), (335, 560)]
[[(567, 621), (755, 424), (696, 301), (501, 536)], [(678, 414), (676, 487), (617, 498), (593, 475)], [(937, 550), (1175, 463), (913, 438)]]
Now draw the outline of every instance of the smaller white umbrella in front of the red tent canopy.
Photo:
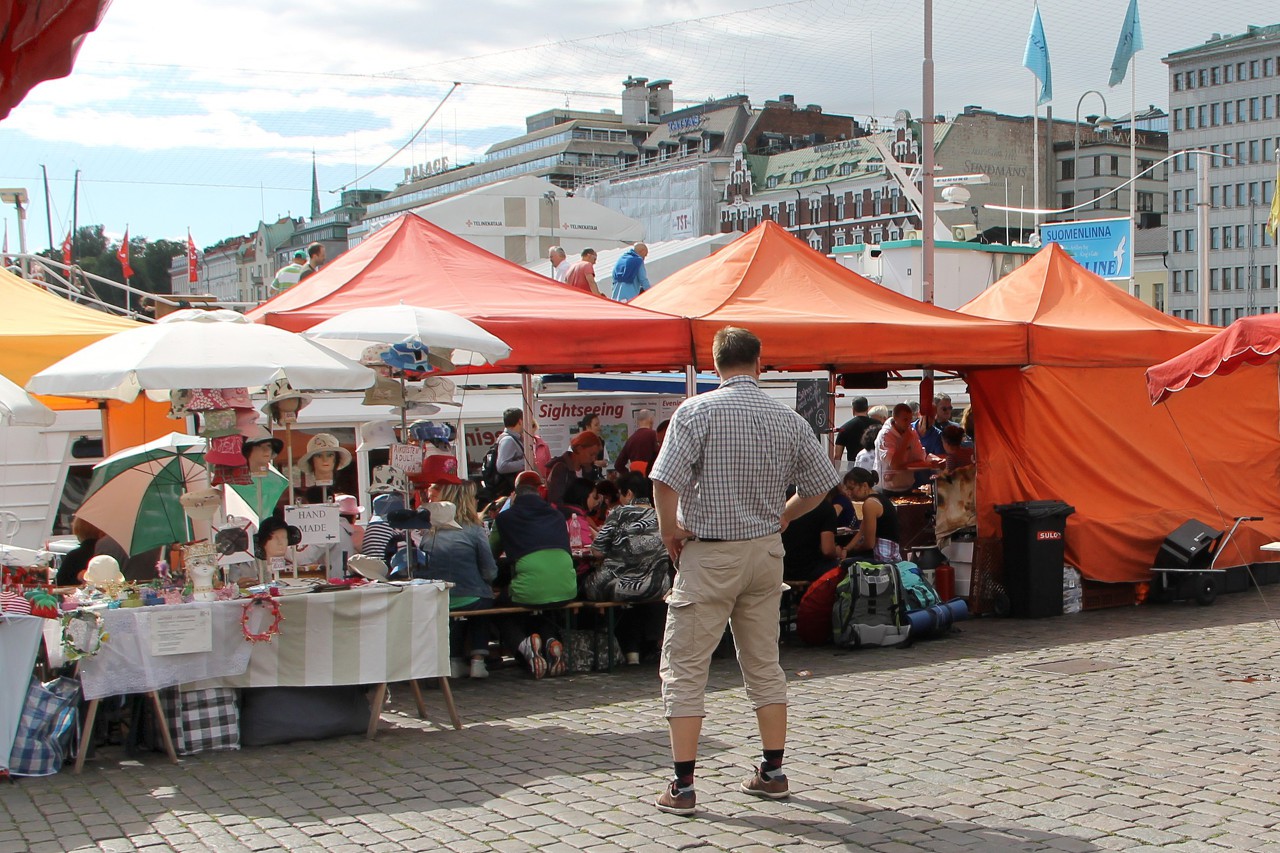
[(302, 334), (351, 357), (358, 357), (370, 345), (411, 342), (445, 355), (458, 365), (472, 364), (471, 355), (490, 364), (511, 355), (511, 347), (506, 342), (471, 320), (451, 311), (417, 305), (352, 309)]

